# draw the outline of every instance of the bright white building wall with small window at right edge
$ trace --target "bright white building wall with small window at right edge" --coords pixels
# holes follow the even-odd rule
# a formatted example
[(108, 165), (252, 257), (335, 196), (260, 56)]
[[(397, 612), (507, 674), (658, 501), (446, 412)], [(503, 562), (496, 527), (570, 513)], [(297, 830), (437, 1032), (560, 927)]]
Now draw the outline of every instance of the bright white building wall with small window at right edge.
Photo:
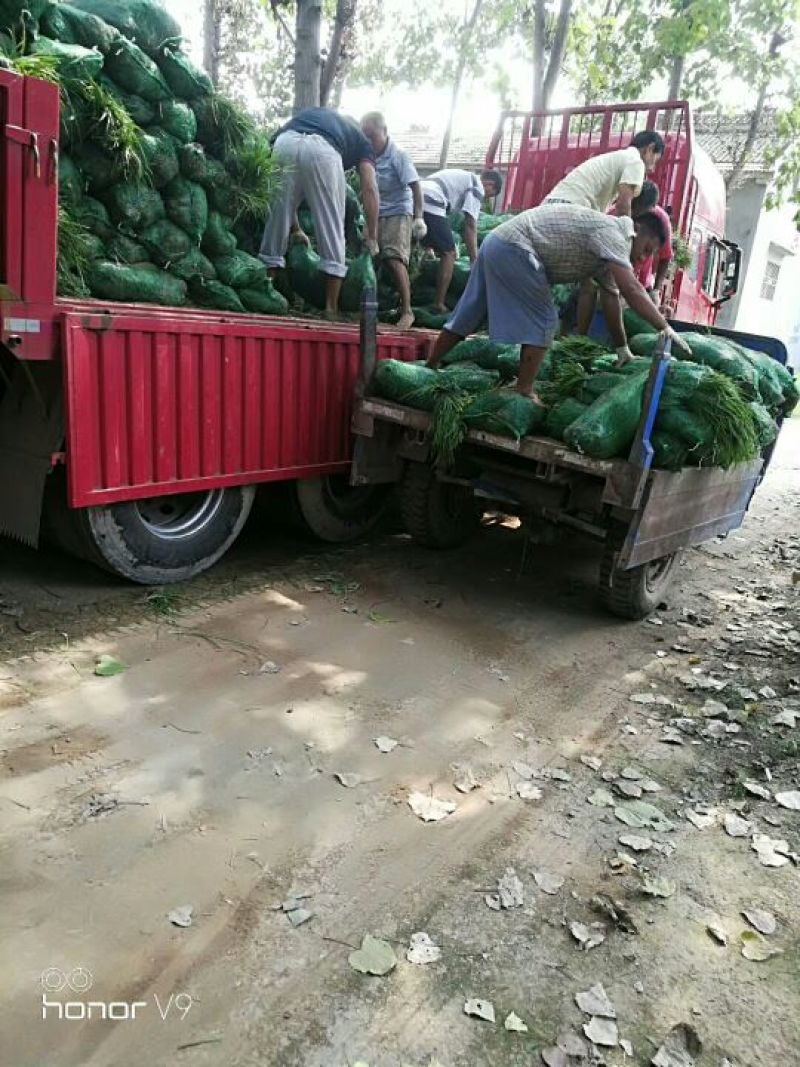
[[(791, 366), (800, 368), (800, 234), (794, 221), (796, 210), (796, 205), (788, 205), (761, 212), (736, 309), (735, 329), (780, 338), (788, 349)], [(771, 300), (762, 296), (770, 262), (779, 267)]]

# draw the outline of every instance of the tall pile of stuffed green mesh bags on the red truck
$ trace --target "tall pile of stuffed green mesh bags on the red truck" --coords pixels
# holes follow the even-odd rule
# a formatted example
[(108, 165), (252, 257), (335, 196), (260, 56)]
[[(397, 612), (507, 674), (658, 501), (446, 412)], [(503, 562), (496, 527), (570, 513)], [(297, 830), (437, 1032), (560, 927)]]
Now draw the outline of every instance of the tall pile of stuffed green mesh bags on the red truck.
[(252, 254), (279, 181), (267, 139), (162, 3), (0, 0), (0, 31), (12, 67), (61, 86), (61, 294), (286, 312)]

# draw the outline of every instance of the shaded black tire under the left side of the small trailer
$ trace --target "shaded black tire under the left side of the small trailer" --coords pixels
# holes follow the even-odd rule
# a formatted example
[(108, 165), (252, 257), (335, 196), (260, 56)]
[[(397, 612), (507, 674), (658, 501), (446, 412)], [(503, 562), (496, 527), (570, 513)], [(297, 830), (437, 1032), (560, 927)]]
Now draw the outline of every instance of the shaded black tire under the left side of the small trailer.
[(427, 463), (409, 463), (400, 482), (400, 512), (405, 529), (428, 548), (455, 548), (480, 524), (471, 490), (439, 481)]

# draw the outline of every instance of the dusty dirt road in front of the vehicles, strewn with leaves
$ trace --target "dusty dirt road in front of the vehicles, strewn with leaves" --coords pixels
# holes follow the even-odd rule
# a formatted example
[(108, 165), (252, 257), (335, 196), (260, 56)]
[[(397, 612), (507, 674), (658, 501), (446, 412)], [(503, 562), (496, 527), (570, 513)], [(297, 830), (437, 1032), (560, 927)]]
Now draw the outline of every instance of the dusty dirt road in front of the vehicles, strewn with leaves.
[[(800, 786), (800, 726), (771, 724), (800, 712), (798, 444), (795, 420), (741, 532), (691, 553), (641, 624), (596, 607), (595, 550), (535, 548), (521, 577), (505, 528), (441, 556), (390, 535), (311, 553), (254, 527), (210, 576), (156, 595), (3, 545), (3, 1067), (535, 1064), (580, 1034), (574, 997), (597, 982), (633, 1045), (608, 1064), (649, 1064), (681, 1022), (704, 1067), (800, 1064), (800, 872), (750, 847), (755, 831), (800, 851), (800, 813), (742, 784)], [(127, 670), (95, 676), (101, 653)], [(687, 688), (709, 675), (724, 688)], [(703, 714), (709, 698), (727, 713)], [(383, 754), (380, 735), (399, 745)], [(524, 800), (531, 773), (542, 796)], [(624, 808), (636, 775), (672, 829), (588, 802), (606, 790)], [(457, 810), (425, 824), (414, 790)], [(703, 803), (715, 825), (697, 829)], [(745, 837), (720, 825), (737, 812)], [(630, 833), (652, 847), (621, 845)], [(524, 903), (495, 911), (509, 866)], [(547, 894), (533, 872), (563, 885)], [(645, 895), (645, 873), (671, 895)], [(298, 927), (274, 910), (292, 893), (314, 913)], [(180, 905), (187, 928), (166, 918)], [(753, 907), (777, 922), (765, 961), (741, 955)], [(603, 923), (603, 943), (581, 951), (575, 921)], [(442, 949), (427, 966), (405, 958), (421, 930)], [(385, 977), (349, 966), (367, 933), (394, 946)], [(43, 972), (78, 990), (50, 1004), (94, 1001), (93, 1018), (43, 1020)], [(137, 1001), (135, 1019), (98, 1017)], [(505, 1030), (510, 1012), (526, 1033)]]

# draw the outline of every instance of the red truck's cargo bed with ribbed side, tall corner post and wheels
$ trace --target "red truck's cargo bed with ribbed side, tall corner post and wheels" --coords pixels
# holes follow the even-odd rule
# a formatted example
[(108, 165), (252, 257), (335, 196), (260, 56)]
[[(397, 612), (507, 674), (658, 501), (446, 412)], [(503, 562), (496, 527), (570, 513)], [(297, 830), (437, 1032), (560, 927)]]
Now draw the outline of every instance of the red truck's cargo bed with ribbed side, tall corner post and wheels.
[[(0, 530), (126, 578), (210, 567), (262, 482), (288, 482), (317, 535), (374, 514), (351, 490), (358, 328), (61, 299), (59, 91), (0, 70)], [(381, 329), (379, 359), (430, 335)]]

